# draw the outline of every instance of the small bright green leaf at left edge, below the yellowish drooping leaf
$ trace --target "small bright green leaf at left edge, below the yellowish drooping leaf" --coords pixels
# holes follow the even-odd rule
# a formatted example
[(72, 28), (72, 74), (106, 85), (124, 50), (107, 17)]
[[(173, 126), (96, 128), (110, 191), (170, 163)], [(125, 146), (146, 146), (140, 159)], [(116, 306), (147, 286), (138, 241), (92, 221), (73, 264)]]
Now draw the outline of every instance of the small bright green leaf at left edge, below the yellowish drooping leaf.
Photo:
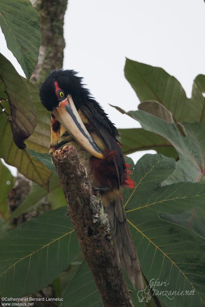
[(6, 202), (7, 196), (11, 188), (13, 187), (14, 177), (12, 176), (10, 170), (3, 165), (0, 160), (0, 217), (2, 220), (6, 220), (9, 216), (8, 205)]

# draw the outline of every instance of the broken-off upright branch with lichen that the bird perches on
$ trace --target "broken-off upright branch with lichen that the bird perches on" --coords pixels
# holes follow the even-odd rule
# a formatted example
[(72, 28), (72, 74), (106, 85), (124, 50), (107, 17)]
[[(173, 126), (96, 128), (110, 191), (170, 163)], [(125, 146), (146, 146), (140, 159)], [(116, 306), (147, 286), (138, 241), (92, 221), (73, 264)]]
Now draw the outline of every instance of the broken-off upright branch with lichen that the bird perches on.
[(68, 213), (104, 307), (133, 307), (122, 270), (115, 260), (108, 216), (104, 213), (100, 196), (95, 196), (75, 147), (64, 146), (52, 155), (52, 160), (68, 204)]

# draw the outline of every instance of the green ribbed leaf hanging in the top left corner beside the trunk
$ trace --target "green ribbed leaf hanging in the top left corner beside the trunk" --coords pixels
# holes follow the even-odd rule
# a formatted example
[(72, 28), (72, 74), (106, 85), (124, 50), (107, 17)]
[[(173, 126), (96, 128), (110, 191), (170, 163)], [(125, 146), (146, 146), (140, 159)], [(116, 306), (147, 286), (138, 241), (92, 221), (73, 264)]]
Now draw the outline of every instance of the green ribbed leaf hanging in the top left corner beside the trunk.
[(30, 79), (38, 62), (41, 45), (37, 10), (29, 0), (3, 0), (0, 2), (0, 25), (8, 49), (17, 58), (26, 78)]

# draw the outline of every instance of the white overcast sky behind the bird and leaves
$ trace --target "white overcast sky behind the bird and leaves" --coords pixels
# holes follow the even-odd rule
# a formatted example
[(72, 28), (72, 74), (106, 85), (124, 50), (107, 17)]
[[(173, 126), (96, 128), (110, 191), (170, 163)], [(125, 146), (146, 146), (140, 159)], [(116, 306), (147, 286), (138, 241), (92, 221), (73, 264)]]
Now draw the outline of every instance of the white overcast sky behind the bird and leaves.
[[(87, 88), (118, 128), (140, 127), (108, 105), (137, 109), (139, 100), (124, 77), (125, 57), (164, 68), (191, 96), (193, 80), (205, 74), (203, 0), (68, 1), (63, 67), (84, 77)], [(2, 33), (0, 41), (0, 52), (23, 75)], [(136, 162), (144, 153), (131, 157)]]

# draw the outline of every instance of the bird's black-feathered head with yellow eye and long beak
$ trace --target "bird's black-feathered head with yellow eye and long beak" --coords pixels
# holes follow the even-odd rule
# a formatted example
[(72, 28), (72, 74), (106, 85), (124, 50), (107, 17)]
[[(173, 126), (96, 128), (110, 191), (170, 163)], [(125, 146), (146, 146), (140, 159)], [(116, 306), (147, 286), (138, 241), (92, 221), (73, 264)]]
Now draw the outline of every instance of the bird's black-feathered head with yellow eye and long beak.
[(51, 111), (69, 134), (93, 156), (103, 159), (103, 153), (93, 141), (78, 113), (81, 103), (89, 99), (89, 91), (73, 70), (53, 70), (41, 84), (42, 105)]

